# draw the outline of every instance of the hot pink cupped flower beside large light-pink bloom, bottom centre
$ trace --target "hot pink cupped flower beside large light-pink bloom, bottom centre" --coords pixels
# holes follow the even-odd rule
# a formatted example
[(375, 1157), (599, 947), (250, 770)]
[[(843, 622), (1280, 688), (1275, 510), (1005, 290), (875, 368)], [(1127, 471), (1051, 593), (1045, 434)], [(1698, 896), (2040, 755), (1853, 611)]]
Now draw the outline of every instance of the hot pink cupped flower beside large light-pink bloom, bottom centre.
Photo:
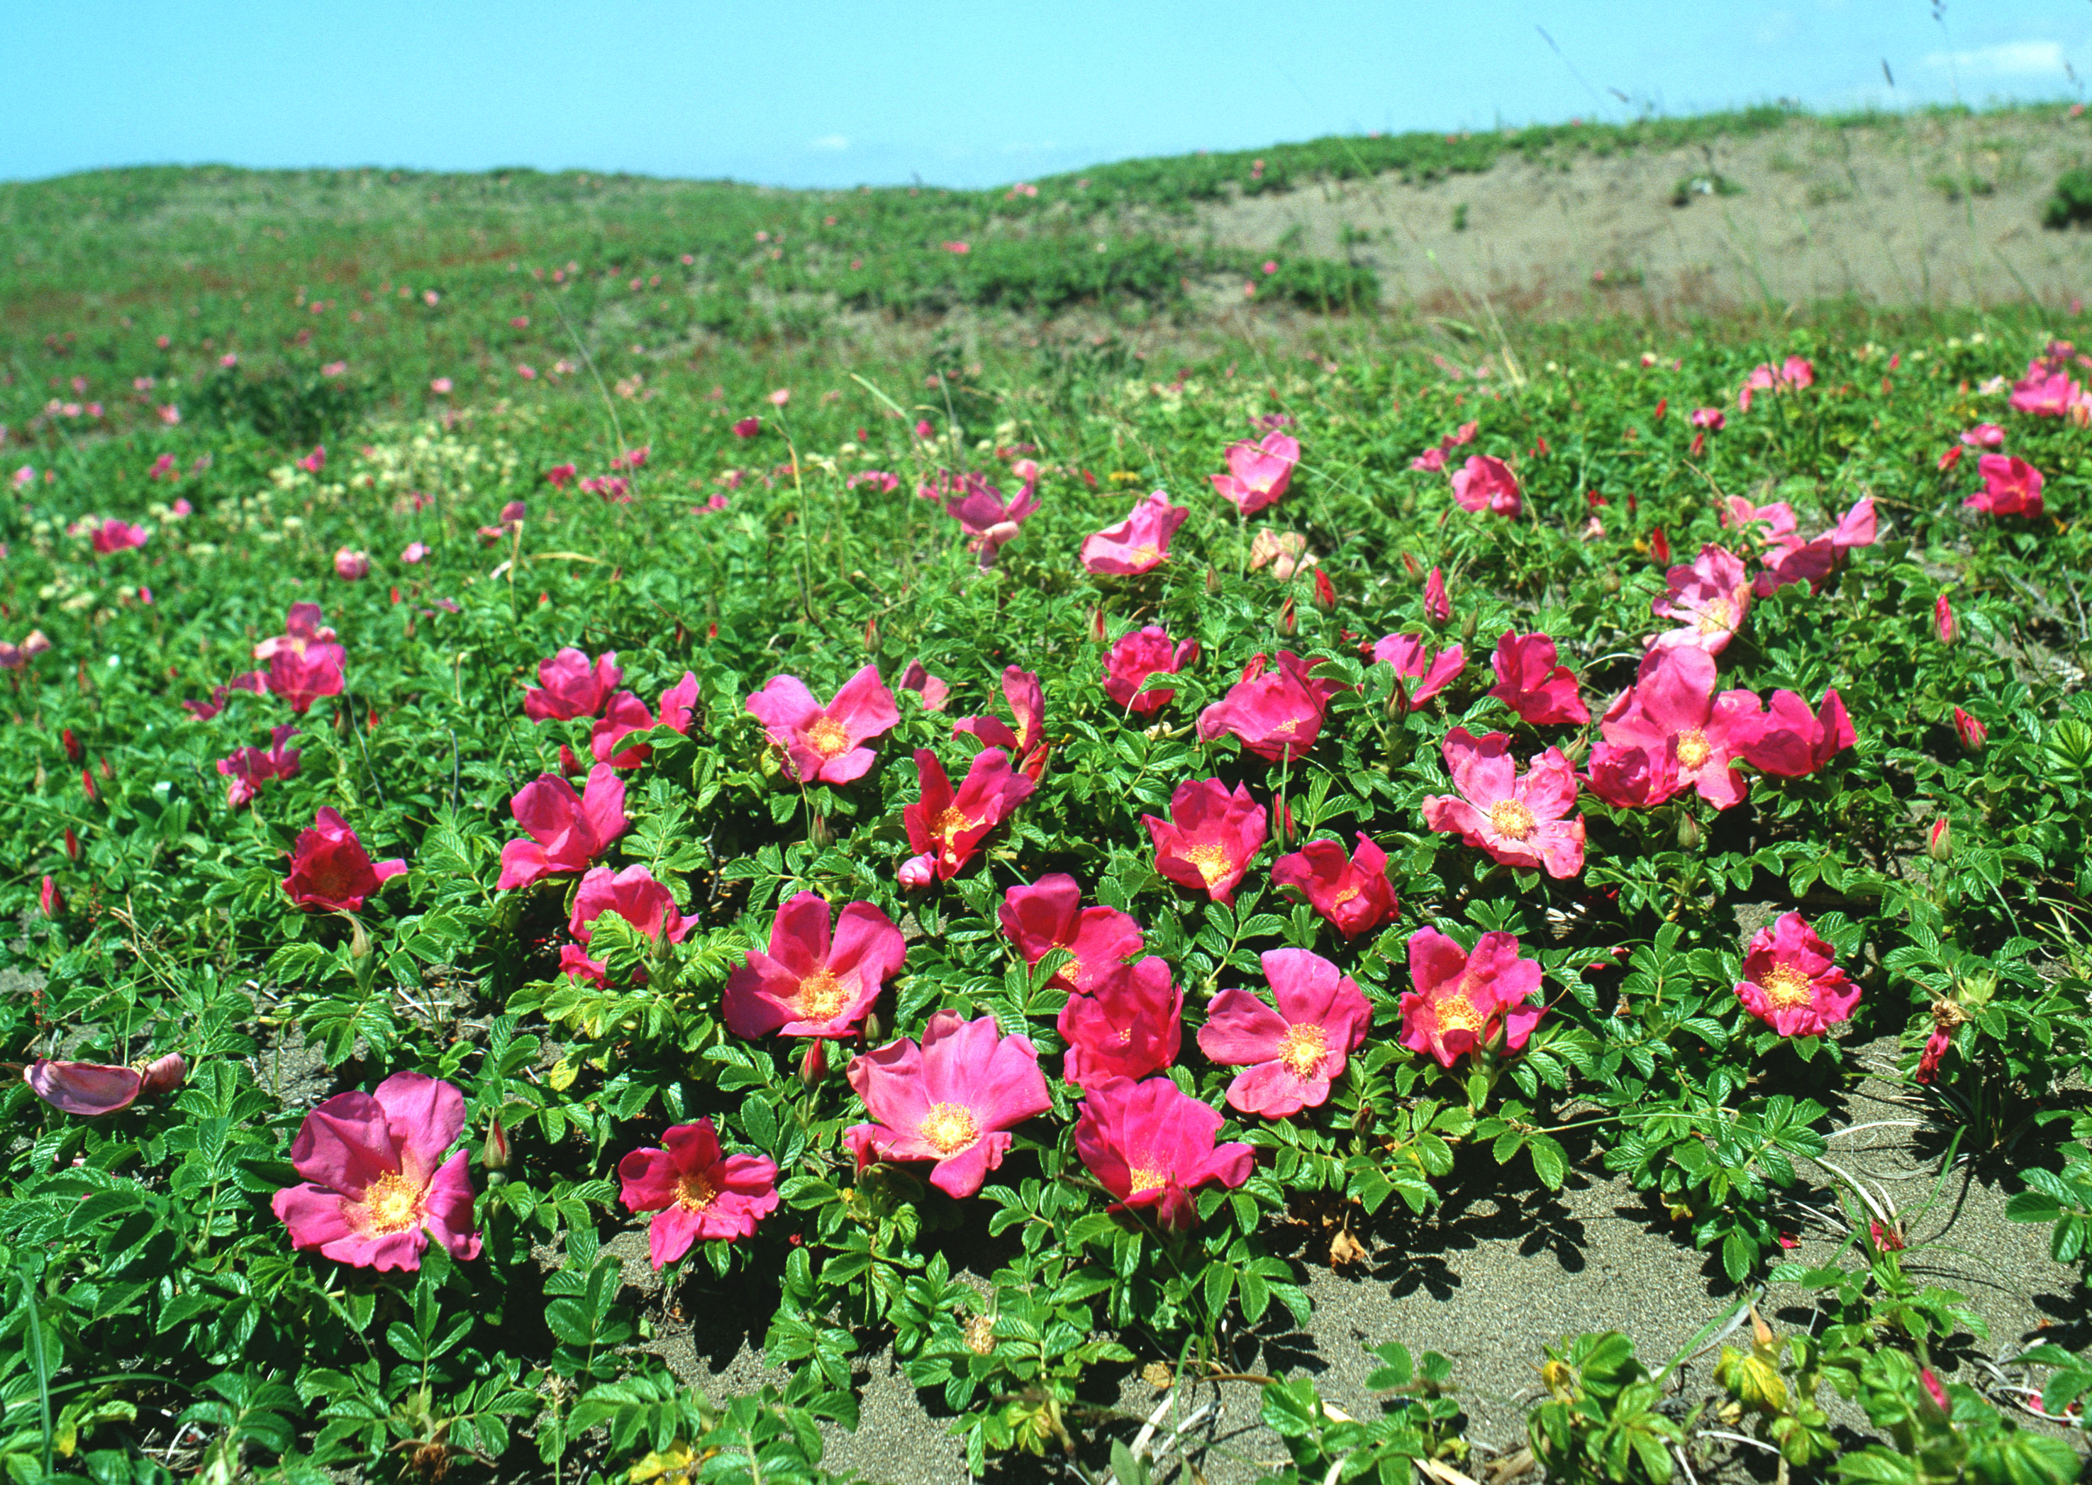
[(1238, 1140), (1215, 1144), (1222, 1113), (1167, 1077), (1113, 1081), (1090, 1090), (1075, 1119), (1075, 1152), (1115, 1209), (1153, 1209), (1165, 1232), (1199, 1221), (1192, 1192), (1241, 1186), (1257, 1157)]

